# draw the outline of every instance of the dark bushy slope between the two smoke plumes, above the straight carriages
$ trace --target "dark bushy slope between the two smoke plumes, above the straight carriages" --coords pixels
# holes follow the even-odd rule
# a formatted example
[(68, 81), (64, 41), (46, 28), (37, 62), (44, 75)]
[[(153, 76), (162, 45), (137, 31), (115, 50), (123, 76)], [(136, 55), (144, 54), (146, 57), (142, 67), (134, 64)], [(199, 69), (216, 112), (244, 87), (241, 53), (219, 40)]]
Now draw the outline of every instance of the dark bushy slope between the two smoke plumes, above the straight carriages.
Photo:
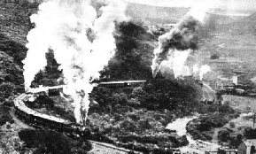
[(116, 33), (116, 53), (101, 78), (110, 77), (108, 80), (112, 81), (151, 79), (153, 47), (144, 42), (152, 41), (152, 35), (132, 22), (117, 25)]

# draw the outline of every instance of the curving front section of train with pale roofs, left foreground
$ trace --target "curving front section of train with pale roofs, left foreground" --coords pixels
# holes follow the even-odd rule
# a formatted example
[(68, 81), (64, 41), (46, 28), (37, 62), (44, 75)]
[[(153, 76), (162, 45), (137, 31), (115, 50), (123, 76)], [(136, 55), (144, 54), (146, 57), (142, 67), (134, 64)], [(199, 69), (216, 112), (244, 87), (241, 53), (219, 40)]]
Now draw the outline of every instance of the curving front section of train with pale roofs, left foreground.
[(59, 119), (54, 116), (35, 112), (24, 104), (24, 102), (29, 101), (29, 99), (31, 98), (35, 99), (35, 96), (45, 94), (49, 96), (58, 95), (60, 90), (63, 90), (63, 88), (53, 87), (45, 90), (32, 90), (28, 91), (25, 94), (21, 94), (13, 101), (15, 115), (17, 116), (17, 118), (23, 120), (25, 123), (33, 127), (58, 131), (72, 137), (89, 137), (89, 127), (81, 126), (80, 124), (70, 122), (66, 119)]

